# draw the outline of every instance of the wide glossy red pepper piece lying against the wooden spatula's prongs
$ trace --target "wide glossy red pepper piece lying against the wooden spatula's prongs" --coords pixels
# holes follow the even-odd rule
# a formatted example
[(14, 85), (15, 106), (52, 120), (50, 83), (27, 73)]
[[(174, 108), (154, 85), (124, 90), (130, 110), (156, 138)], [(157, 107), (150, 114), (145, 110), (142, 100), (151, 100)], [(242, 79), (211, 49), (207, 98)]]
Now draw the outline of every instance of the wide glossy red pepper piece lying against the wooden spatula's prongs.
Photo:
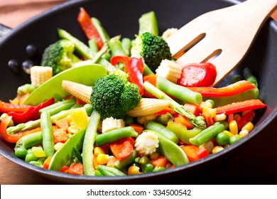
[(182, 68), (177, 84), (184, 87), (210, 87), (217, 77), (217, 70), (212, 63), (191, 63)]

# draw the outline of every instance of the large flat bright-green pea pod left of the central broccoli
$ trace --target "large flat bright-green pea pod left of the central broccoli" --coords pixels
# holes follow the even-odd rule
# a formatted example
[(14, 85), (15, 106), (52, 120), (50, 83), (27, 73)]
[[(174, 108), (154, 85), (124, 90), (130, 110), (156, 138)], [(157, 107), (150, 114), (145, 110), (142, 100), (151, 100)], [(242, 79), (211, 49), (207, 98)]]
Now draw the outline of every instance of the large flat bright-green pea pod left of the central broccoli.
[(98, 64), (70, 68), (60, 72), (58, 75), (55, 75), (37, 87), (23, 103), (36, 106), (51, 97), (54, 97), (56, 101), (60, 101), (63, 97), (69, 95), (68, 92), (63, 90), (63, 80), (78, 82), (83, 85), (94, 85), (94, 82), (99, 77), (104, 77), (105, 75), (107, 75), (107, 71), (102, 65)]

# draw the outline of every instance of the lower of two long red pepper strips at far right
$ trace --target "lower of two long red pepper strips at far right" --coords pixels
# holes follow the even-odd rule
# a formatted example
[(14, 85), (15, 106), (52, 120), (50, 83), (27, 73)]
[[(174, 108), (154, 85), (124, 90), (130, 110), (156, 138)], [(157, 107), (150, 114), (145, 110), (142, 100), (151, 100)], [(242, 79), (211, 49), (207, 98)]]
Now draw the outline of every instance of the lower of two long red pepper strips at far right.
[(232, 104), (227, 104), (222, 107), (216, 107), (217, 114), (232, 114), (237, 112), (243, 112), (247, 110), (262, 109), (266, 107), (266, 104), (261, 102), (260, 99), (249, 99), (243, 102), (235, 102)]

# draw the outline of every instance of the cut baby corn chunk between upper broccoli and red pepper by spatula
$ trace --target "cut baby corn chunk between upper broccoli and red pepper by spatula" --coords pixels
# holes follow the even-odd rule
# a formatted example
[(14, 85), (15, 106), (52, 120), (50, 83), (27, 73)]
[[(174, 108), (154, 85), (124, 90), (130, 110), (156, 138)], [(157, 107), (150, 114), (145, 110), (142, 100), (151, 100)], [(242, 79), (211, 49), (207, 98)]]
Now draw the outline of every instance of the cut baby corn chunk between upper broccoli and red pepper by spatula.
[(156, 75), (164, 77), (170, 82), (176, 83), (181, 77), (182, 68), (173, 61), (162, 60), (161, 65), (156, 70)]

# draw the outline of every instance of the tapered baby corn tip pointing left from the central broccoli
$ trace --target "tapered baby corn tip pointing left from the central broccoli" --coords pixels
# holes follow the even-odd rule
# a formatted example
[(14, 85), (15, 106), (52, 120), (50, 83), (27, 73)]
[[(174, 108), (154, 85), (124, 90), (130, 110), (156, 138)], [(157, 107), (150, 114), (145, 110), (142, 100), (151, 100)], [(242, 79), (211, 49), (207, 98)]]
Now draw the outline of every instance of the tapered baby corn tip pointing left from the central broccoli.
[(62, 87), (74, 97), (81, 99), (83, 102), (90, 104), (90, 95), (92, 94), (92, 87), (82, 85), (77, 82), (63, 80)]

